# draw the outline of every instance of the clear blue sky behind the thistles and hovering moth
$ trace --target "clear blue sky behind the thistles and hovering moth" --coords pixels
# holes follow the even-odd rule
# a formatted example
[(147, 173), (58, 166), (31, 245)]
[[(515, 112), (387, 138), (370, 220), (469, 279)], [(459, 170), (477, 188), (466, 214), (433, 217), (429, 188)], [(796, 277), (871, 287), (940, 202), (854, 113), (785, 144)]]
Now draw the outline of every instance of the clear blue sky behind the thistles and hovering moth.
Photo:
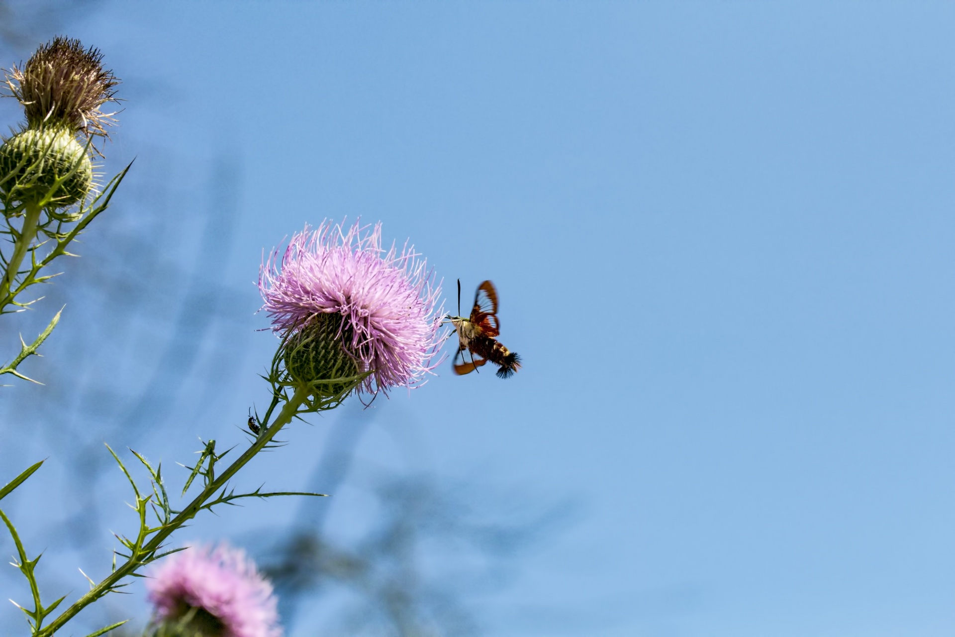
[[(233, 421), (262, 250), (304, 223), (410, 237), (449, 306), (498, 286), (515, 378), (375, 406), (436, 475), (576, 502), (490, 634), (881, 637), (955, 631), (953, 32), (930, 2), (117, 2), (70, 34), (126, 80), (117, 161), (161, 139), (184, 197), (242, 165)], [(325, 426), (252, 473), (300, 488)]]

